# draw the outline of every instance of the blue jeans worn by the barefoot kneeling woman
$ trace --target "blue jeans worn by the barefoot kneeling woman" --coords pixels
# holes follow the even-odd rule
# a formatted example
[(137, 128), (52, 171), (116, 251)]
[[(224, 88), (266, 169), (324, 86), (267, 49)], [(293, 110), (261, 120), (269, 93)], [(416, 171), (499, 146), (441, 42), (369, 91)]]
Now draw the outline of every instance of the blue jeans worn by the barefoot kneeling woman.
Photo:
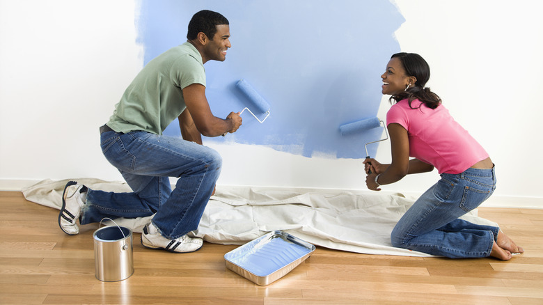
[(494, 169), (442, 173), (407, 210), (391, 234), (393, 247), (449, 258), (490, 255), (499, 228), (481, 226), (458, 217), (477, 208), (496, 189)]

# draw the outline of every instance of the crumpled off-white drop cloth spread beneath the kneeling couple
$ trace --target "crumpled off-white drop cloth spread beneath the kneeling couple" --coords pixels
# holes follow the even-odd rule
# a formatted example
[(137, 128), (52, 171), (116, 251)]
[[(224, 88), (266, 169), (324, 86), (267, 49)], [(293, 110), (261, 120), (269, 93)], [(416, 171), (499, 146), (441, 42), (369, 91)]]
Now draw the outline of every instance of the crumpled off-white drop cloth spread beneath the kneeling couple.
[[(130, 191), (120, 182), (93, 178), (76, 179), (91, 189)], [(23, 190), (28, 201), (60, 209), (69, 180), (43, 180)], [(391, 246), (390, 234), (402, 214), (414, 203), (401, 194), (322, 194), (283, 189), (218, 187), (205, 208), (194, 235), (217, 244), (245, 244), (272, 230), (283, 230), (317, 246), (356, 253), (397, 256), (430, 256)], [(477, 217), (476, 211), (462, 219), (497, 226)], [(115, 219), (116, 224), (136, 233), (150, 217)], [(111, 224), (104, 221), (104, 224)]]

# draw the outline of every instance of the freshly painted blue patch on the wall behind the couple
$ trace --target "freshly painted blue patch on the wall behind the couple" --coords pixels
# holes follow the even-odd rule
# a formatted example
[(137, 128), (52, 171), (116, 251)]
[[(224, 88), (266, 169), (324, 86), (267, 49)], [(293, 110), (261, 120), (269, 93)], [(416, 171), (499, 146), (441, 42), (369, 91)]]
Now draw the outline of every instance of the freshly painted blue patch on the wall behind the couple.
[[(363, 158), (364, 144), (384, 136), (381, 127), (341, 136), (339, 126), (377, 115), (380, 75), (400, 51), (394, 32), (404, 18), (393, 3), (142, 0), (136, 22), (145, 63), (185, 42), (190, 18), (202, 9), (228, 18), (232, 35), (226, 61), (205, 64), (214, 115), (224, 118), (251, 107), (235, 87), (239, 79), (271, 105), (264, 123), (245, 111), (235, 134), (204, 141), (262, 145), (306, 157)], [(180, 136), (177, 121), (164, 133)], [(375, 155), (377, 144), (368, 150)]]

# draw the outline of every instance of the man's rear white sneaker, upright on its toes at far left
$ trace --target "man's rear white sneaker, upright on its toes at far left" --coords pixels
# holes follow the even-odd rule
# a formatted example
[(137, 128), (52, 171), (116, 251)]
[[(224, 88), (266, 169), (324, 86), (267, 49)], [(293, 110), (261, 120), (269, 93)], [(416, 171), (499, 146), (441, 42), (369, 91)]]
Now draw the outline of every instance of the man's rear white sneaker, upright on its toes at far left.
[(76, 224), (81, 207), (85, 204), (88, 189), (84, 185), (78, 185), (75, 181), (70, 181), (64, 187), (62, 194), (62, 208), (58, 213), (58, 226), (68, 235), (79, 233), (79, 227)]

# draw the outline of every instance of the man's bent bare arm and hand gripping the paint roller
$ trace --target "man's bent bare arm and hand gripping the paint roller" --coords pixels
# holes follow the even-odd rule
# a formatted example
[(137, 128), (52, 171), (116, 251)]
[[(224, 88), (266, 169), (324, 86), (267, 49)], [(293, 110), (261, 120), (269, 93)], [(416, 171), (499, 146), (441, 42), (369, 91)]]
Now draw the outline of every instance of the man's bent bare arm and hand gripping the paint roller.
[(226, 132), (235, 132), (242, 125), (239, 113), (230, 112), (226, 119), (213, 116), (210, 104), (205, 97), (205, 86), (201, 84), (185, 87), (183, 97), (189, 110), (187, 114), (191, 116), (196, 130), (204, 136), (220, 136)]

